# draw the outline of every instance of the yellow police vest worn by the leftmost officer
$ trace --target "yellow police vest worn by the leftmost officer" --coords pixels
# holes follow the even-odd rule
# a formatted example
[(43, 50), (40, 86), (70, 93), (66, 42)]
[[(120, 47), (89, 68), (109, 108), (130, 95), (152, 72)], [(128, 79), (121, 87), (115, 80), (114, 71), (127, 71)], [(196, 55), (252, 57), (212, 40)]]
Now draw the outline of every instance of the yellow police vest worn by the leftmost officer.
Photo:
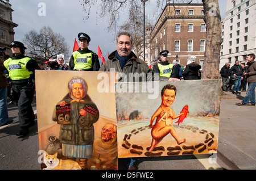
[(28, 71), (26, 68), (27, 62), (31, 60), (30, 57), (24, 57), (21, 59), (7, 59), (5, 62), (3, 62), (3, 65), (5, 65), (6, 69), (9, 71), (9, 76), (12, 80), (22, 80), (30, 78), (30, 74), (32, 74), (32, 71)]

